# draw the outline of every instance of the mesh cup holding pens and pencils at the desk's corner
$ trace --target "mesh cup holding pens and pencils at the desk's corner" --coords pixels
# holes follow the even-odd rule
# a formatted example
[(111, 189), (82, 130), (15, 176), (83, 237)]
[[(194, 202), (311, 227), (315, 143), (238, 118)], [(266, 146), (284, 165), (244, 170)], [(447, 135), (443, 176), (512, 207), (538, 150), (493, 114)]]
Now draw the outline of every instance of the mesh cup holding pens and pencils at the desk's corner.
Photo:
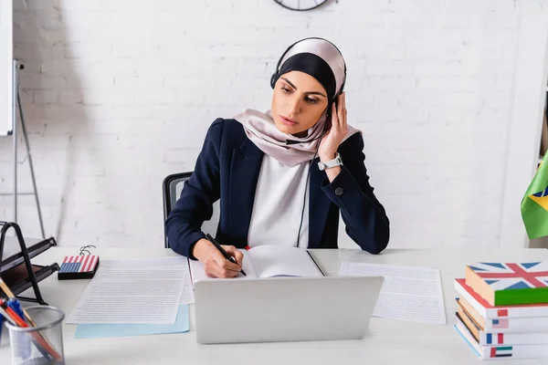
[(65, 313), (58, 308), (35, 306), (26, 308), (36, 327), (16, 327), (5, 321), (13, 365), (65, 364), (62, 324)]

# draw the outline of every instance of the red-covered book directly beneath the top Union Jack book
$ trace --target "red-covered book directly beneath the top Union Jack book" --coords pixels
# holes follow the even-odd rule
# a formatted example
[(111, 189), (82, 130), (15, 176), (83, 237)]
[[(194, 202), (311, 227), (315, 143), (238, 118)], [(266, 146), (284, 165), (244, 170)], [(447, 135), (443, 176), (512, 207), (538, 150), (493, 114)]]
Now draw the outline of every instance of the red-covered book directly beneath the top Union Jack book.
[(491, 306), (484, 298), (466, 285), (464, 278), (454, 280), (454, 287), (458, 294), (483, 318), (504, 319), (504, 318), (537, 318), (548, 317), (548, 304), (523, 304), (520, 306)]

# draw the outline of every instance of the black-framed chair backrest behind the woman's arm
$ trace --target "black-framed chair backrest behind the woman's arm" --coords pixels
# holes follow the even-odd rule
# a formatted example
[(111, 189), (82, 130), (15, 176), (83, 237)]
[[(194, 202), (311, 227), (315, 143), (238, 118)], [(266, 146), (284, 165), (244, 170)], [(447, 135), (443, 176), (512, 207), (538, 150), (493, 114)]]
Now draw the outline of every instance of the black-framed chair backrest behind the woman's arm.
[[(174, 208), (175, 203), (177, 203), (177, 200), (181, 196), (181, 193), (184, 189), (184, 183), (186, 183), (191, 176), (192, 172), (180, 172), (168, 175), (165, 177), (165, 179), (163, 179), (162, 190), (164, 223), (167, 219), (167, 216)], [(204, 224), (202, 224), (202, 231), (205, 234), (213, 235), (215, 237), (216, 230), (219, 225), (219, 215), (219, 201), (217, 200), (215, 203), (213, 203), (213, 215), (211, 216), (211, 219), (209, 221), (205, 221)], [(169, 242), (167, 240), (167, 235), (165, 234), (165, 224), (163, 229), (163, 237), (165, 241), (164, 245), (166, 248), (169, 248)]]

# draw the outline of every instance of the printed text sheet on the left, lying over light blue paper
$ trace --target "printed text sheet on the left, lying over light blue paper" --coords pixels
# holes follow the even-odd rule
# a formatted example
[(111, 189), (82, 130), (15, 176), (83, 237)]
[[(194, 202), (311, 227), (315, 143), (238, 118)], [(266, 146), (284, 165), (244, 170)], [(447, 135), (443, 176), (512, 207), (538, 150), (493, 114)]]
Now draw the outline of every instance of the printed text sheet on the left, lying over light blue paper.
[(101, 260), (67, 323), (174, 323), (186, 276), (183, 256)]

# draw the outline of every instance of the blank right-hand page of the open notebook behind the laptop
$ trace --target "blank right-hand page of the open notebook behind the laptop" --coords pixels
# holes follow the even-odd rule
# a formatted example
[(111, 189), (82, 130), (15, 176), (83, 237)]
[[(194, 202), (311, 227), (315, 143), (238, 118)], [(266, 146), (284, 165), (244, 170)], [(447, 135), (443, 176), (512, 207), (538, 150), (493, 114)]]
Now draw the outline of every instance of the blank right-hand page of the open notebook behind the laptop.
[(258, 245), (248, 253), (258, 277), (323, 276), (304, 248)]

